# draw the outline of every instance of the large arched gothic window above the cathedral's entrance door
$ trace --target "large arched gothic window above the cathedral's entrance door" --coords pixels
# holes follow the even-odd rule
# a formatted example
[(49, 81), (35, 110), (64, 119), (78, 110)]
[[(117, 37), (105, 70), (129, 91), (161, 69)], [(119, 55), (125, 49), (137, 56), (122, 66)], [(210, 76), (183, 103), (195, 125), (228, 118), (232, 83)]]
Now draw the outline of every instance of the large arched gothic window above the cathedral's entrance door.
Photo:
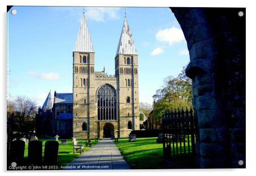
[(97, 91), (98, 120), (117, 120), (117, 93), (109, 84)]

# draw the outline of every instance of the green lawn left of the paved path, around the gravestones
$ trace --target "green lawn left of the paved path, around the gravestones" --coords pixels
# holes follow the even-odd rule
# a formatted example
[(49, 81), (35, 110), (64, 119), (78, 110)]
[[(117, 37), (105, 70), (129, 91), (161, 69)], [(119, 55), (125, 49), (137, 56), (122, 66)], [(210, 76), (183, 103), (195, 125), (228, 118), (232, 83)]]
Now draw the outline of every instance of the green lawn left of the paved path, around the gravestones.
[[(51, 140), (51, 139), (40, 139), (41, 141), (43, 141), (43, 155), (44, 155), (44, 147), (45, 147), (45, 142), (47, 140)], [(77, 142), (82, 141), (82, 143), (85, 144), (85, 139), (77, 139)], [(92, 141), (92, 145), (94, 146), (97, 142), (94, 142), (94, 140)], [(100, 140), (99, 140), (100, 141)], [(87, 151), (90, 147), (86, 147), (84, 151)], [(58, 166), (64, 166), (67, 165), (68, 163), (70, 163), (71, 161), (73, 161), (75, 158), (80, 156), (80, 152), (73, 154), (73, 142), (72, 140), (68, 140), (67, 141), (67, 145), (61, 145), (61, 141), (59, 141), (59, 151), (58, 151), (58, 162), (57, 165)], [(28, 144), (25, 145), (25, 152), (24, 152), (24, 158), (26, 159), (26, 157), (28, 157)]]

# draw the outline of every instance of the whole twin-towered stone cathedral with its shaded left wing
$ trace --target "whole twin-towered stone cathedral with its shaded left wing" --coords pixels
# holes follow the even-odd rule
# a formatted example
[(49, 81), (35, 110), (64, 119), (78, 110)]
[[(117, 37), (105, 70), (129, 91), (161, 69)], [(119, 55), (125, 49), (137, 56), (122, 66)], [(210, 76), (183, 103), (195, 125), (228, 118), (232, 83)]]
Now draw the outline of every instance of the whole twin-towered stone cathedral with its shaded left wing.
[(138, 53), (125, 17), (113, 64), (94, 71), (94, 48), (82, 15), (73, 50), (73, 93), (49, 92), (38, 109), (37, 135), (60, 138), (128, 137), (139, 130)]

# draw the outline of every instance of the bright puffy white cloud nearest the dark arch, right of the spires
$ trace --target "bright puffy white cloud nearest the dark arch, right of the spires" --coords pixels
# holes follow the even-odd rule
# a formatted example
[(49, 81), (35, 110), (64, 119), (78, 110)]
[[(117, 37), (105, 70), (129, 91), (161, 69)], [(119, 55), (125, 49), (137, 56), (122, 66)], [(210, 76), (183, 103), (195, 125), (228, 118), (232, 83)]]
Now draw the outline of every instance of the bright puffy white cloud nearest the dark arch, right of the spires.
[(174, 44), (175, 42), (180, 42), (185, 40), (184, 34), (181, 29), (177, 27), (166, 28), (164, 30), (159, 30), (156, 33), (157, 41), (168, 42), (169, 45)]

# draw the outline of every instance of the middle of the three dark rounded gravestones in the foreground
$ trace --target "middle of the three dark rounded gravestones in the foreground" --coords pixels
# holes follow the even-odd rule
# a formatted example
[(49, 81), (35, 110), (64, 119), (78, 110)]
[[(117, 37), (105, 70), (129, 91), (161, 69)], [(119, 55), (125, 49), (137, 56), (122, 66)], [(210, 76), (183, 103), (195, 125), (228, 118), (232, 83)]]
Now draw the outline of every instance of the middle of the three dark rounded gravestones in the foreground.
[(43, 142), (33, 140), (28, 143), (28, 161), (33, 165), (42, 164)]

